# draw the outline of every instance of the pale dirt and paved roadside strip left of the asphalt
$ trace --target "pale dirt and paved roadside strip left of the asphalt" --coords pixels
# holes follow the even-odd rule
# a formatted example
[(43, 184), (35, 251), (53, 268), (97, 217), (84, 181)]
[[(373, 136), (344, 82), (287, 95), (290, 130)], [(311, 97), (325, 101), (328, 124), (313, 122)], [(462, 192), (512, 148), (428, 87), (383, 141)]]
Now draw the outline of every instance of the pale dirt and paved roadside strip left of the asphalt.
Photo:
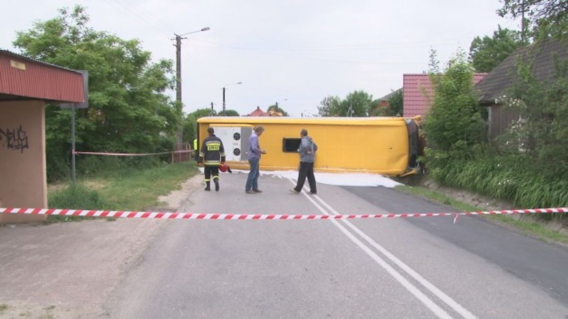
[[(201, 175), (160, 200), (177, 209)], [(86, 220), (0, 227), (0, 318), (106, 318), (102, 307), (143, 262), (166, 220)]]

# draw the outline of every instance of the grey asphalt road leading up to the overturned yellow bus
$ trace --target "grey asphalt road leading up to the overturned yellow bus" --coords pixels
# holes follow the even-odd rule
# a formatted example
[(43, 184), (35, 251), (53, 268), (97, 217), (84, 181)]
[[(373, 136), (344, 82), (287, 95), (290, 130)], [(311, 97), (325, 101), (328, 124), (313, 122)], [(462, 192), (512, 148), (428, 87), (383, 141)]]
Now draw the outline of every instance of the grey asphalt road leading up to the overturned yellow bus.
[[(450, 211), (383, 187), (288, 192), (223, 174), (183, 211)], [(306, 190), (304, 188), (304, 190)], [(568, 318), (568, 251), (477, 217), (169, 220), (108, 299), (111, 318)]]

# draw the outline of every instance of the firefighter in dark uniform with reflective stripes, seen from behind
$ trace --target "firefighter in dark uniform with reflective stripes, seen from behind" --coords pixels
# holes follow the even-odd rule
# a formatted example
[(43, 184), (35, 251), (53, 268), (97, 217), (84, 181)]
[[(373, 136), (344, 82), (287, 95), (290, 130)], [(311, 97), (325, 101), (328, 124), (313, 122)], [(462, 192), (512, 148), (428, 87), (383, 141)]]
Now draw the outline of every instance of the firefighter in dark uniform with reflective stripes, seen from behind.
[(205, 171), (205, 190), (211, 191), (211, 177), (215, 183), (215, 191), (219, 191), (219, 166), (225, 163), (225, 149), (223, 142), (215, 136), (215, 130), (210, 127), (207, 129), (209, 136), (201, 144), (199, 152), (199, 162), (203, 163)]

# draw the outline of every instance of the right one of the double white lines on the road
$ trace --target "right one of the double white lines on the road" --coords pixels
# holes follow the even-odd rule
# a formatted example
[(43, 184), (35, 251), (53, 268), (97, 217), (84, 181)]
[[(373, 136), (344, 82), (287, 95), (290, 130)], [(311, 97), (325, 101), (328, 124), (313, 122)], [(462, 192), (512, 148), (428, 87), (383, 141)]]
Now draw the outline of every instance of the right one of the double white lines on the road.
[[(306, 194), (306, 196), (307, 196), (307, 194)], [(333, 209), (333, 207), (331, 207), (331, 205), (326, 203), (319, 196), (316, 195), (315, 198), (322, 205), (324, 205), (325, 208), (327, 208), (330, 212), (332, 212), (334, 215), (340, 215), (339, 212), (337, 212), (335, 209)], [(350, 229), (352, 229), (359, 236), (361, 236), (361, 238), (363, 238), (366, 242), (368, 242), (371, 246), (375, 247), (375, 249), (377, 249), (383, 255), (385, 255), (385, 257), (389, 258), (392, 262), (394, 262), (396, 264), (396, 266), (399, 266), (400, 268), (402, 268), (402, 270), (404, 270), (408, 275), (412, 276), (412, 278), (414, 278), (422, 286), (427, 288), (434, 295), (436, 295), (438, 298), (440, 298), (442, 301), (444, 301), (444, 303), (446, 303), (447, 305), (452, 307), (452, 309), (456, 310), (456, 312), (458, 312), (463, 318), (466, 318), (466, 319), (476, 319), (477, 318), (477, 317), (474, 316), (473, 313), (469, 312), (469, 310), (463, 308), (462, 305), (458, 304), (457, 301), (453, 300), (450, 296), (448, 296), (444, 292), (442, 292), (438, 287), (434, 286), (434, 284), (432, 284), (431, 282), (426, 280), (423, 276), (421, 276), (416, 271), (414, 271), (412, 268), (410, 268), (408, 265), (406, 265), (406, 263), (404, 263), (400, 259), (396, 258), (395, 255), (390, 253), (390, 251), (386, 250), (385, 247), (379, 245), (376, 241), (373, 240), (373, 238), (367, 236), (367, 234), (365, 234), (361, 229), (357, 228), (357, 226), (353, 225), (348, 220), (342, 220), (342, 221)]]

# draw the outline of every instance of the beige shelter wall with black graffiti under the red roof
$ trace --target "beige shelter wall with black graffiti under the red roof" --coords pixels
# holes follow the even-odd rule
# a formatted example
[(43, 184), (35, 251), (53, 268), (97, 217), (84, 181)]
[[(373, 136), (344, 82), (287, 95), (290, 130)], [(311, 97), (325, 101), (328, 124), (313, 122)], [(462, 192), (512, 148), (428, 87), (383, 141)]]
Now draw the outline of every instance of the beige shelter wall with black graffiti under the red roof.
[[(47, 207), (44, 102), (0, 102), (0, 130), (0, 207)], [(0, 223), (44, 219), (0, 213)]]

